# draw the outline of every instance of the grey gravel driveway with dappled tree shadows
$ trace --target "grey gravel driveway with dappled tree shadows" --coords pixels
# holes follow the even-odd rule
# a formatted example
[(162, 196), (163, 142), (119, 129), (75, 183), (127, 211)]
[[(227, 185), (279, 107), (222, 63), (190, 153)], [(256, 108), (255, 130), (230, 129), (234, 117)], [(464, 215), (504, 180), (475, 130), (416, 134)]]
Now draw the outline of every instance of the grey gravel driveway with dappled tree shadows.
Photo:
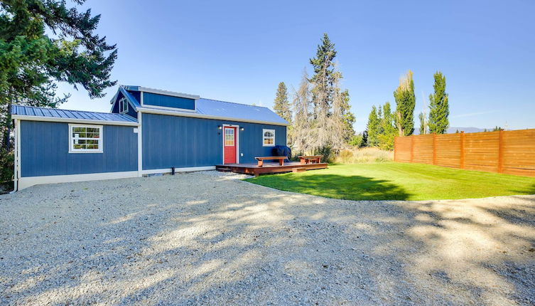
[(239, 177), (0, 196), (0, 304), (535, 303), (535, 196), (355, 202)]

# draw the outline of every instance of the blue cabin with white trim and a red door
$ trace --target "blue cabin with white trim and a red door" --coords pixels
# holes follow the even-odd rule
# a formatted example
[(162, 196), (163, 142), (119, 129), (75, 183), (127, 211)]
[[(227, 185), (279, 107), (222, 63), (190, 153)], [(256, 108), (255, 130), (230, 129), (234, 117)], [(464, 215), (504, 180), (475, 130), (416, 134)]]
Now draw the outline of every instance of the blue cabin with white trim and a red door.
[(255, 162), (286, 145), (288, 122), (266, 107), (120, 86), (112, 110), (12, 105), (16, 190), (215, 169)]

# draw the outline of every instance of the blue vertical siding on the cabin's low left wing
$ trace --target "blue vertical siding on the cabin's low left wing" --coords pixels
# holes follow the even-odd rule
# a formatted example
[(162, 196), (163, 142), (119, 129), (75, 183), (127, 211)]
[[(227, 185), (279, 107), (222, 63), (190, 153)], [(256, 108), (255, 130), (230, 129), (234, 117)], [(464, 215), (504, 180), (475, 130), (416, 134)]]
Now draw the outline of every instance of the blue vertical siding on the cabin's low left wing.
[(134, 127), (104, 125), (103, 153), (69, 153), (69, 125), (21, 121), (21, 176), (137, 170)]

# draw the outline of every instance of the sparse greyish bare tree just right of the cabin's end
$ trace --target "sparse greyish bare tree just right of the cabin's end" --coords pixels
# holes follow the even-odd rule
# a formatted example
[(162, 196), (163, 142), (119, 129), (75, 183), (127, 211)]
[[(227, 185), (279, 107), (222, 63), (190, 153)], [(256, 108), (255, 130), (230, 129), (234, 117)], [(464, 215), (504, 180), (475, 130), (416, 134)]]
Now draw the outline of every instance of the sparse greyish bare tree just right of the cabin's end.
[(292, 144), (296, 153), (307, 154), (311, 151), (310, 143), (310, 85), (308, 74), (303, 69), (299, 88), (293, 96)]

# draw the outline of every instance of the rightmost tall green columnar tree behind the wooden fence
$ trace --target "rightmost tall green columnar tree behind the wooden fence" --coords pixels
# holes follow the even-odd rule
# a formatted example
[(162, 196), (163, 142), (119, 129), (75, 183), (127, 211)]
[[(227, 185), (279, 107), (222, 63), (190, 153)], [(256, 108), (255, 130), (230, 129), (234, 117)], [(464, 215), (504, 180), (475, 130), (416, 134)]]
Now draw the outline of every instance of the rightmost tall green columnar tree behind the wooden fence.
[(448, 94), (445, 92), (445, 76), (437, 71), (433, 78), (434, 93), (429, 95), (429, 132), (445, 134), (450, 126), (448, 116), (450, 109), (448, 105)]

